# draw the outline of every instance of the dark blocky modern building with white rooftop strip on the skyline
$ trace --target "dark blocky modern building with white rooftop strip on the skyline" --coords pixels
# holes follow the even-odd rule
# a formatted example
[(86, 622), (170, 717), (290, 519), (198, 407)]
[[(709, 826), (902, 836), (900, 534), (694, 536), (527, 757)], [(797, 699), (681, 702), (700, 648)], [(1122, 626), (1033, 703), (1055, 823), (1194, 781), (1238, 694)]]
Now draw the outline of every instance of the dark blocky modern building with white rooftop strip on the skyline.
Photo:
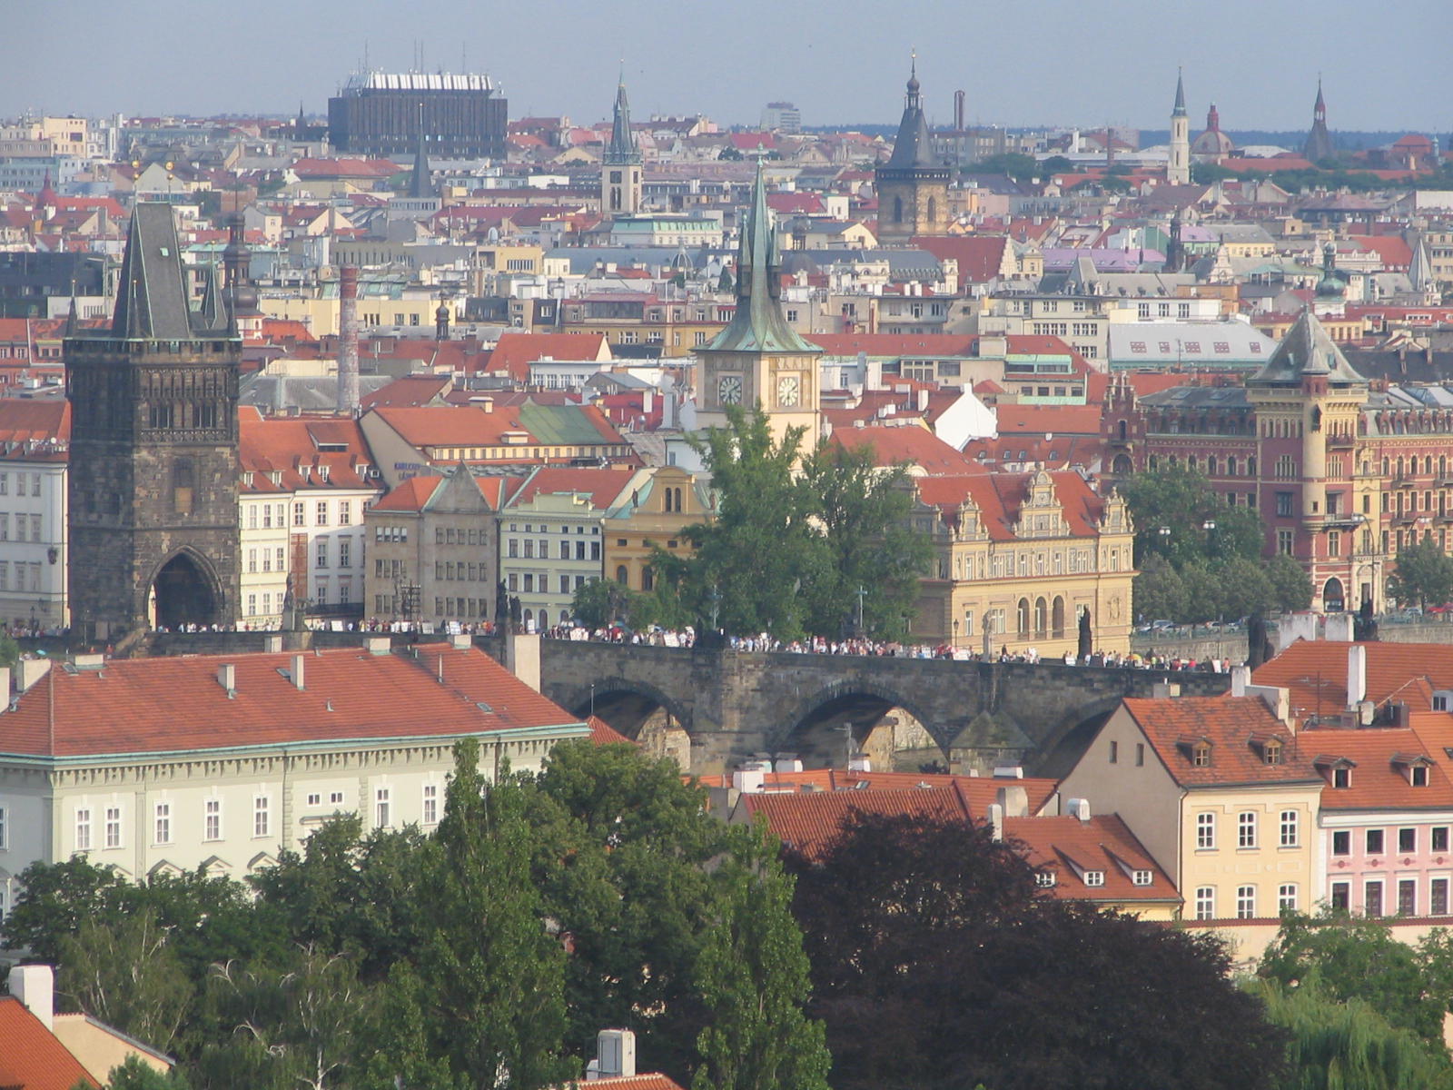
[(353, 156), (413, 161), (421, 131), (429, 158), (503, 158), (507, 110), (478, 73), (359, 73), (328, 99), (328, 138)]

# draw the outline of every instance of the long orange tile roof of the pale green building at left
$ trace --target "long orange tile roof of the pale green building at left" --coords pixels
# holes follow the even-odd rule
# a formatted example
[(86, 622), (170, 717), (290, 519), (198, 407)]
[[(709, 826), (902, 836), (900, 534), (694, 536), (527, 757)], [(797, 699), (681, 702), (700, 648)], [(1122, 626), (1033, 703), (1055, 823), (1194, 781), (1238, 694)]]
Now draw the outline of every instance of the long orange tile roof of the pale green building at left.
[[(424, 644), (417, 657), (362, 648), (305, 654), (302, 690), (279, 673), (291, 670), (292, 657), (118, 658), (74, 673), (55, 664), (19, 696), (16, 711), (0, 712), (0, 750), (84, 757), (578, 724), (472, 647)], [(224, 664), (235, 669), (231, 698), (216, 680)]]

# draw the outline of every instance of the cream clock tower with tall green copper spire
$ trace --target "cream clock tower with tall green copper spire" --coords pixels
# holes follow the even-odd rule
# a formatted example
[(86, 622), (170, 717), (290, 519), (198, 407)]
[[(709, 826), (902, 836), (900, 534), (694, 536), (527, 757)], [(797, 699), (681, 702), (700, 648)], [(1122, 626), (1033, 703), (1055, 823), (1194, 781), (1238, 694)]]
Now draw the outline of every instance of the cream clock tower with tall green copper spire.
[(757, 407), (777, 437), (789, 427), (805, 427), (802, 451), (812, 451), (821, 439), (821, 355), (822, 349), (804, 340), (782, 312), (782, 266), (758, 160), (737, 249), (737, 312), (696, 353), (697, 423), (722, 427), (728, 405)]

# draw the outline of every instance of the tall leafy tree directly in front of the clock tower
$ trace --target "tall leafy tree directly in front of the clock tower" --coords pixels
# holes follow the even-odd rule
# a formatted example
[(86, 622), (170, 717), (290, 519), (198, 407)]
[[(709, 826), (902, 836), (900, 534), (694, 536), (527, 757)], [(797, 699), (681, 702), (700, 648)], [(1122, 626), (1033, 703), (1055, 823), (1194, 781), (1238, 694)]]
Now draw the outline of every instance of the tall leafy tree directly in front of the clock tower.
[(687, 526), (681, 536), (693, 555), (663, 549), (652, 564), (681, 607), (728, 632), (772, 632), (783, 639), (806, 631), (806, 587), (828, 560), (811, 523), (811, 500), (793, 475), (805, 429), (774, 439), (766, 413), (726, 407), (726, 426), (711, 427), (693, 448), (700, 453), (718, 509), (712, 522)]

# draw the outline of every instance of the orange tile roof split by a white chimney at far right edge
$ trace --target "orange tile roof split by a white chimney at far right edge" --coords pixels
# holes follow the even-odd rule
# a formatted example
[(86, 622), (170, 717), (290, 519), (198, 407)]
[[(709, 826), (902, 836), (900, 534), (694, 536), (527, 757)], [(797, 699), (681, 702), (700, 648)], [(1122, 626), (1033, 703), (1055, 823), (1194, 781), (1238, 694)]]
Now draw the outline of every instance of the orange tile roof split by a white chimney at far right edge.
[[(1299, 639), (1257, 667), (1251, 680), (1290, 690), (1298, 718), (1335, 714), (1347, 706), (1347, 650), (1351, 644)], [(1453, 651), (1447, 644), (1363, 644), (1367, 648), (1366, 698), (1373, 703), (1407, 701), (1433, 709), (1433, 689), (1453, 689)], [(1420, 685), (1421, 683), (1421, 685)]]

